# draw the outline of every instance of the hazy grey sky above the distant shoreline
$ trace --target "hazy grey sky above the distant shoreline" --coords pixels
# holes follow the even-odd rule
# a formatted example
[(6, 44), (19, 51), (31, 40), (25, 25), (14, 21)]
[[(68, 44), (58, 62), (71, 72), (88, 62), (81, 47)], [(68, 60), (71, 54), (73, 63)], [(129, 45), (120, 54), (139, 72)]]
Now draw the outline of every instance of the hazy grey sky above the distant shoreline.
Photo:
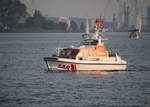
[[(111, 20), (114, 12), (119, 12), (119, 3), (130, 0), (22, 0), (30, 12), (40, 10), (48, 16), (74, 16)], [(133, 0), (131, 0), (133, 1)], [(141, 1), (141, 0), (140, 0)], [(150, 1), (150, 0), (143, 0)]]

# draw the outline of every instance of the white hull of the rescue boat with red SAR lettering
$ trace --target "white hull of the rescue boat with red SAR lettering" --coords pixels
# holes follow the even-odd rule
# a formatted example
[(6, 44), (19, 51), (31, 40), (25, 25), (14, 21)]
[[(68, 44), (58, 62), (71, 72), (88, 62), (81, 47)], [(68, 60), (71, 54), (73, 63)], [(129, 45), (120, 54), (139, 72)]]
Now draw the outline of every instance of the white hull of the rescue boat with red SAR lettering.
[(94, 62), (94, 61), (61, 61), (45, 59), (48, 70), (62, 70), (62, 71), (115, 71), (125, 70), (127, 68), (126, 63), (110, 63), (110, 62)]

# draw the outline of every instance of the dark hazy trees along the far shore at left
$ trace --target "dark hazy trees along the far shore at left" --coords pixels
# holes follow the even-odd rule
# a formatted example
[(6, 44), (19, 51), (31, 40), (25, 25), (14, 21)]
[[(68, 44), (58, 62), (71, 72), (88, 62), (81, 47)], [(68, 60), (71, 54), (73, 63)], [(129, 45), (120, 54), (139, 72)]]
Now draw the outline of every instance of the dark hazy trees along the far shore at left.
[[(25, 19), (25, 23), (20, 23), (21, 19)], [(85, 29), (83, 23), (78, 27), (77, 23), (73, 20), (71, 20), (70, 25), (70, 32), (83, 31)], [(56, 23), (47, 19), (39, 10), (35, 10), (34, 14), (30, 16), (26, 5), (19, 0), (1, 0), (0, 2), (0, 32), (13, 28), (40, 28), (66, 31), (67, 26), (64, 22)]]

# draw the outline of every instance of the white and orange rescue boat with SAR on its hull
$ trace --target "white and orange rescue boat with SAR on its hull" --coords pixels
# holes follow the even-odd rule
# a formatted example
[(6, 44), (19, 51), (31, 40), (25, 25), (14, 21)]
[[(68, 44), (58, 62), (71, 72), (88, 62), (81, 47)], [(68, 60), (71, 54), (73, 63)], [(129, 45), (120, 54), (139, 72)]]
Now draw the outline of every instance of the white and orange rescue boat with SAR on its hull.
[(126, 70), (127, 62), (118, 53), (106, 49), (101, 37), (101, 24), (95, 21), (95, 33), (83, 38), (78, 47), (58, 48), (51, 57), (44, 57), (48, 71), (120, 71)]

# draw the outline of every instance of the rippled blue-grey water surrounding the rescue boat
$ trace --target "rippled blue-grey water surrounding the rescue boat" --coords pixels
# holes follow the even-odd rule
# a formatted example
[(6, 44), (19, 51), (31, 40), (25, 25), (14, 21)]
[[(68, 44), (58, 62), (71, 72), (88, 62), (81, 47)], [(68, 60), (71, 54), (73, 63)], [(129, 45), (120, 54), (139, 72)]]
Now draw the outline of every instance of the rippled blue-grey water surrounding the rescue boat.
[(150, 33), (106, 33), (126, 71), (50, 73), (43, 57), (77, 45), (81, 34), (0, 34), (0, 107), (150, 107)]

